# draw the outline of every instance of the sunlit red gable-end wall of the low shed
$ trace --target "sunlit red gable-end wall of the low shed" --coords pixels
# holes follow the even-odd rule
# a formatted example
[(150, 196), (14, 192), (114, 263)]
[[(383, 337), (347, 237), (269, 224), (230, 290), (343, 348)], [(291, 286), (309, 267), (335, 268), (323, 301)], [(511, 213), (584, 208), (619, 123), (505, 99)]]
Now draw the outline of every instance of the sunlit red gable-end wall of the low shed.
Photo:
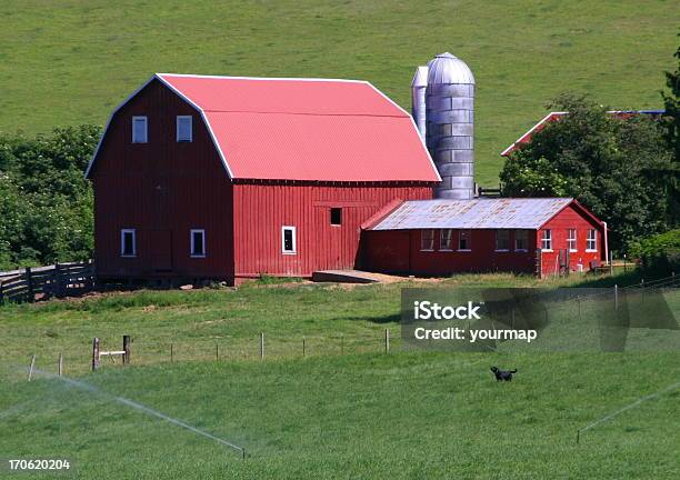
[[(567, 249), (568, 230), (577, 229), (577, 251), (569, 253), (569, 269), (572, 271), (579, 270), (579, 264), (583, 270), (590, 269), (591, 261), (604, 260), (604, 238), (601, 226), (594, 222), (590, 217), (583, 214), (578, 207), (573, 204), (567, 207), (554, 218), (548, 221), (540, 230), (537, 237), (537, 248), (541, 247), (542, 231), (550, 229), (552, 231), (552, 252), (541, 252), (542, 272), (544, 276), (554, 274), (559, 264), (558, 256), (560, 249)], [(598, 231), (598, 251), (586, 251), (586, 239), (588, 230), (596, 229)]]

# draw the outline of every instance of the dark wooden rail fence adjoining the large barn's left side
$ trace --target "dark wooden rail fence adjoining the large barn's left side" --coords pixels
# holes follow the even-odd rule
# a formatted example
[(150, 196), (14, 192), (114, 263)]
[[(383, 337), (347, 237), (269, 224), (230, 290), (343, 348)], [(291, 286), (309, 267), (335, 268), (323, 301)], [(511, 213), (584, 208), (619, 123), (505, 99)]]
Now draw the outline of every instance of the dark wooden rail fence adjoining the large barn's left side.
[(91, 260), (0, 272), (0, 304), (77, 296), (93, 290), (94, 283)]

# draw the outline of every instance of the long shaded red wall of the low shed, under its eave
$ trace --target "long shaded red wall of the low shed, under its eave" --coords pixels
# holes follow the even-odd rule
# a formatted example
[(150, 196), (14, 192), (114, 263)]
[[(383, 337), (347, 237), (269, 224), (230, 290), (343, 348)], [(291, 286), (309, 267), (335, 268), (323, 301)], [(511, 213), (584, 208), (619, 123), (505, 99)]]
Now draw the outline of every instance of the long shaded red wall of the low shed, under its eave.
[[(453, 231), (453, 248), (458, 246), (459, 231)], [(496, 230), (472, 230), (471, 251), (440, 250), (440, 230), (434, 230), (434, 250), (421, 251), (420, 230), (367, 231), (366, 252), (368, 268), (386, 273), (412, 273), (443, 276), (456, 272), (513, 271), (532, 273), (536, 269), (536, 251), (497, 252)], [(536, 231), (529, 231), (529, 244), (533, 244)], [(510, 233), (514, 244), (513, 231)]]

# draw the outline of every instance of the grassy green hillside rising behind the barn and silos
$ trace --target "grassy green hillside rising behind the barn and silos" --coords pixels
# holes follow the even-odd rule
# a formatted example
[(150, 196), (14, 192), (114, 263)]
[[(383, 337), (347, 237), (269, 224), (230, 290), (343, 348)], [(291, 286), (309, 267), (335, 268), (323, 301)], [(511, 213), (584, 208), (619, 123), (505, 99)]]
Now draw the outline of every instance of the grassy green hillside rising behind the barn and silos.
[(657, 109), (677, 2), (4, 0), (0, 131), (103, 124), (153, 72), (371, 81), (410, 109), (414, 68), (451, 51), (477, 83), (477, 181), (563, 91)]

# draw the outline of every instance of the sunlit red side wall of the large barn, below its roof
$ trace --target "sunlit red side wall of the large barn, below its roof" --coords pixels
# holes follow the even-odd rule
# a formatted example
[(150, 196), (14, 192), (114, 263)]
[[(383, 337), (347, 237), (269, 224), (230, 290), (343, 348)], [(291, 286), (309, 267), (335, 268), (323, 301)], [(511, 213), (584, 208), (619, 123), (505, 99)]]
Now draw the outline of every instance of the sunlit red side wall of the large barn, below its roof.
[[(431, 186), (234, 184), (236, 276), (310, 276), (360, 263), (363, 221), (394, 199), (431, 199)], [(342, 208), (342, 226), (330, 208)], [(297, 229), (297, 254), (281, 252), (281, 227)]]

